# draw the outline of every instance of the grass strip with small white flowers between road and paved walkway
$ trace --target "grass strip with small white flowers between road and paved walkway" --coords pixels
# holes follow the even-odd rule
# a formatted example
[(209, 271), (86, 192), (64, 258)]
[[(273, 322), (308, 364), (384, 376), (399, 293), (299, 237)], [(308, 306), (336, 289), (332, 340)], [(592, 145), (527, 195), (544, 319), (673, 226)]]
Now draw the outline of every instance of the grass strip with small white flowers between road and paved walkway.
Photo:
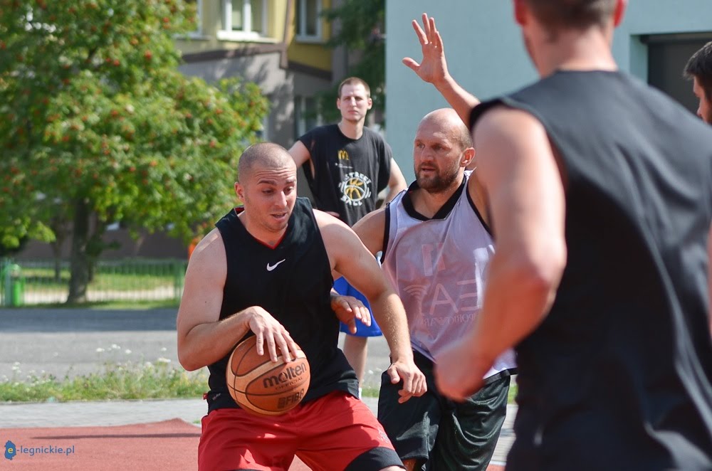
[(108, 364), (105, 371), (57, 379), (29, 376), (0, 381), (0, 401), (63, 402), (118, 399), (201, 398), (206, 371), (187, 373), (167, 364)]

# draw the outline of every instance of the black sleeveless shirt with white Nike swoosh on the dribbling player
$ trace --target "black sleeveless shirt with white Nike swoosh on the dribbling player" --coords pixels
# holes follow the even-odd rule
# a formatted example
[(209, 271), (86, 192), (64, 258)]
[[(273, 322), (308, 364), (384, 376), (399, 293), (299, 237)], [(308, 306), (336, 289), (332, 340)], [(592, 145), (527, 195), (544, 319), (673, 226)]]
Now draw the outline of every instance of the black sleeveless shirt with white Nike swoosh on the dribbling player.
[[(309, 200), (297, 199), (284, 238), (274, 248), (248, 233), (238, 217), (241, 211), (235, 208), (216, 223), (227, 258), (220, 319), (263, 307), (307, 356), (311, 381), (303, 401), (337, 390), (357, 396), (356, 374), (337, 346), (339, 321), (330, 302), (333, 277)], [(209, 410), (238, 407), (225, 382), (228, 359), (229, 354), (208, 366)]]

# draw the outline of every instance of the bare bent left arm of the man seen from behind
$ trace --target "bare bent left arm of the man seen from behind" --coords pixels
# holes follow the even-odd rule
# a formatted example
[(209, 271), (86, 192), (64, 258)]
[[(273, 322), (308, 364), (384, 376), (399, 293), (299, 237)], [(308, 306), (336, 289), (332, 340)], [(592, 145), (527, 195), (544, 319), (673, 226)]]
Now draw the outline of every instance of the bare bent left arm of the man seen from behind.
[(527, 112), (498, 108), (475, 139), (497, 241), (473, 329), (436, 358), (440, 391), (459, 400), (542, 322), (566, 264), (564, 184), (544, 127)]

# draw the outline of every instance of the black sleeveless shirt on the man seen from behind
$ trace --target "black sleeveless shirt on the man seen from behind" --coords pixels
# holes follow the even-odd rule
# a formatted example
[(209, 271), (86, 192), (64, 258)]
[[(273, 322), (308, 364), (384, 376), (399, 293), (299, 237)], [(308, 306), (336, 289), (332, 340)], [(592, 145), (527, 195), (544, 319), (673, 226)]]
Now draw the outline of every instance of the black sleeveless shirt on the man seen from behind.
[(543, 124), (567, 176), (567, 266), (517, 347), (508, 466), (712, 469), (712, 128), (616, 72), (554, 73), (471, 125), (498, 105)]

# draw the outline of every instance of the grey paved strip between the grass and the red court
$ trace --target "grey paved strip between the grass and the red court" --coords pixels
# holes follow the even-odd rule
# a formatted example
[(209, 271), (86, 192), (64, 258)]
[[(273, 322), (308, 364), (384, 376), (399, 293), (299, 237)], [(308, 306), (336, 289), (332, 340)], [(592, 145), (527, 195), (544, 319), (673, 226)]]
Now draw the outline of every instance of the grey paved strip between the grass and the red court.
[[(376, 413), (378, 398), (365, 403)], [(507, 418), (497, 443), (493, 465), (503, 465), (514, 441), (512, 430), (517, 406), (507, 406)], [(0, 429), (27, 427), (91, 427), (128, 425), (181, 418), (197, 427), (206, 413), (201, 399), (147, 401), (93, 401), (66, 403), (0, 403)]]

